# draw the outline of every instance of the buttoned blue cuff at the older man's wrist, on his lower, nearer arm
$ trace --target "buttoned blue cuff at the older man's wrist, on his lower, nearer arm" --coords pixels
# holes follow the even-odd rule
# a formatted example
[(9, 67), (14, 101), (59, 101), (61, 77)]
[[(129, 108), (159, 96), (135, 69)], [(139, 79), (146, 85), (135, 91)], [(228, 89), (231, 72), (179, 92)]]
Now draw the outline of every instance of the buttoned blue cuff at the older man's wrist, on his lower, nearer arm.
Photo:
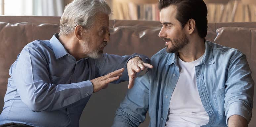
[(82, 98), (85, 98), (93, 93), (93, 85), (91, 81), (87, 80), (76, 84), (79, 86)]

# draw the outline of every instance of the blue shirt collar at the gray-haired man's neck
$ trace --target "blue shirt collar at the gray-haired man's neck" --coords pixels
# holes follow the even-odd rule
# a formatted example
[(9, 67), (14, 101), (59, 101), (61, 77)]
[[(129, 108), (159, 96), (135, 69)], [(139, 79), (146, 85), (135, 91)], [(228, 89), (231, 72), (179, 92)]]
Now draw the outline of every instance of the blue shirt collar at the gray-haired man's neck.
[(56, 59), (59, 59), (68, 54), (67, 50), (64, 48), (62, 43), (58, 40), (58, 38), (59, 38), (58, 33), (55, 33), (50, 40)]

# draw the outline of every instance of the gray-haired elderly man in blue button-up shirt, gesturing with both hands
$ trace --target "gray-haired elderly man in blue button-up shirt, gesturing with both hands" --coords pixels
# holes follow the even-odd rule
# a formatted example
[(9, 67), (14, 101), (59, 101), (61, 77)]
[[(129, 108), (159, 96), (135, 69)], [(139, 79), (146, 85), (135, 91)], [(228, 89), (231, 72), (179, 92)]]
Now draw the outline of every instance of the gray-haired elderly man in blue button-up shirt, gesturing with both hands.
[(142, 61), (149, 60), (145, 56), (103, 54), (110, 13), (104, 0), (74, 0), (64, 10), (59, 34), (24, 47), (10, 68), (2, 127), (77, 127), (93, 92), (129, 77), (131, 88), (135, 72), (152, 68)]

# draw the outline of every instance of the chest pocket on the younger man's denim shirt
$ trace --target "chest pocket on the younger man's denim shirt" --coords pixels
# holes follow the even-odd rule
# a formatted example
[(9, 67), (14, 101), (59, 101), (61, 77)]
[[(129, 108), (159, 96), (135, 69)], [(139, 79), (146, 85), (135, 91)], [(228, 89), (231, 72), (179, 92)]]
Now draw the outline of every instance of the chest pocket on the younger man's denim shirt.
[(213, 93), (213, 97), (215, 100), (215, 105), (219, 114), (219, 117), (222, 118), (225, 115), (224, 112), (224, 97), (225, 97), (225, 87), (218, 89)]

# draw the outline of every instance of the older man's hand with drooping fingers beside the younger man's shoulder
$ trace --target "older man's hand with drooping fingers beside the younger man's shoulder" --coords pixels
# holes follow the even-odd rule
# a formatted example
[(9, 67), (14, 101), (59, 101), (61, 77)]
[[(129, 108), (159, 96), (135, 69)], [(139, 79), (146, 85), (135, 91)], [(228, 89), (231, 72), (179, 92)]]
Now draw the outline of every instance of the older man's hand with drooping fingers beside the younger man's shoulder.
[(140, 57), (134, 57), (130, 59), (127, 63), (127, 71), (129, 76), (128, 89), (131, 89), (134, 84), (134, 79), (136, 78), (136, 72), (140, 72), (145, 68), (153, 68), (152, 65), (144, 63)]

